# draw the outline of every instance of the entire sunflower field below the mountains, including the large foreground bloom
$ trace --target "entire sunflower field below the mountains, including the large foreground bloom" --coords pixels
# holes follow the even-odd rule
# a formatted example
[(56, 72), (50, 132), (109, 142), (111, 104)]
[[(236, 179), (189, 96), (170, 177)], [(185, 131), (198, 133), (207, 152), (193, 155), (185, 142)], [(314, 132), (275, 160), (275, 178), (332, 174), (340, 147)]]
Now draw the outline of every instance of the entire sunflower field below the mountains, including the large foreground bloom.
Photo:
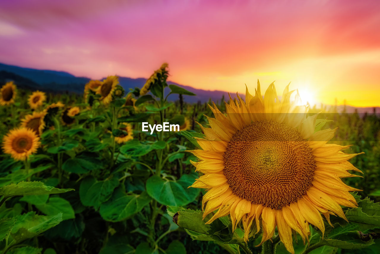
[(259, 82), (188, 104), (168, 75), (82, 95), (0, 84), (1, 254), (380, 253), (376, 112)]

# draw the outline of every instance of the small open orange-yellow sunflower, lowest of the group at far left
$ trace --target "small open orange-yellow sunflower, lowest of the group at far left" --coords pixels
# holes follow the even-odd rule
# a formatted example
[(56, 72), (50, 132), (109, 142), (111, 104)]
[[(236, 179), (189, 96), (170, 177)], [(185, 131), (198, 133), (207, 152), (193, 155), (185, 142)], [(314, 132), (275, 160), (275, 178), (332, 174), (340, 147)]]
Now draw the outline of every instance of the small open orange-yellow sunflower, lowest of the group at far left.
[(39, 139), (32, 129), (13, 129), (4, 136), (4, 153), (10, 154), (16, 160), (27, 159), (32, 153), (36, 153), (40, 146)]

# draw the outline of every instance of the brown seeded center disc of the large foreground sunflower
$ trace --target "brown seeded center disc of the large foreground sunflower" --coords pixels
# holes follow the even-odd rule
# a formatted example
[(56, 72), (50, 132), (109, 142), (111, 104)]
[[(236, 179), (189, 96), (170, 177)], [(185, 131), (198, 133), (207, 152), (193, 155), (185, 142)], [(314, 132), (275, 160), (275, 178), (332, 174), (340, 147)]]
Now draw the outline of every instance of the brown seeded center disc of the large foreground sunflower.
[(306, 194), (316, 167), (311, 148), (296, 129), (267, 120), (234, 134), (224, 164), (234, 194), (272, 209)]

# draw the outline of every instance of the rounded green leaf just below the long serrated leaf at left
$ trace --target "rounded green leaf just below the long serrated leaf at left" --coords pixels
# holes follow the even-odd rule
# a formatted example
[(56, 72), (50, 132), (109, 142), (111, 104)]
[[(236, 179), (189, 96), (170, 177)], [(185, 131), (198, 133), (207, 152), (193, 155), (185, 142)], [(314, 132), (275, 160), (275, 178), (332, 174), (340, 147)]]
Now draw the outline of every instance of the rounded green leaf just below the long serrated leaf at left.
[(62, 213), (62, 220), (75, 218), (70, 202), (62, 197), (50, 197), (46, 204), (36, 205), (36, 208), (46, 215)]

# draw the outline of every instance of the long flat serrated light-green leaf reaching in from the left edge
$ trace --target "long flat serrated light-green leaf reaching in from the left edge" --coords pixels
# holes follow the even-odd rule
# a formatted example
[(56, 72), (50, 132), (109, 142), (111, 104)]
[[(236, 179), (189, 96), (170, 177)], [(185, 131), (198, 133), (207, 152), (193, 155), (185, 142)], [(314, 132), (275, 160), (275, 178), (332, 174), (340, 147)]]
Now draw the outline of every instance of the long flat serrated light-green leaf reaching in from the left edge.
[(74, 189), (58, 189), (52, 186), (46, 186), (38, 181), (22, 181), (17, 184), (12, 183), (10, 185), (3, 186), (0, 188), (0, 195), (5, 197), (12, 197), (21, 195), (58, 194), (73, 190)]

